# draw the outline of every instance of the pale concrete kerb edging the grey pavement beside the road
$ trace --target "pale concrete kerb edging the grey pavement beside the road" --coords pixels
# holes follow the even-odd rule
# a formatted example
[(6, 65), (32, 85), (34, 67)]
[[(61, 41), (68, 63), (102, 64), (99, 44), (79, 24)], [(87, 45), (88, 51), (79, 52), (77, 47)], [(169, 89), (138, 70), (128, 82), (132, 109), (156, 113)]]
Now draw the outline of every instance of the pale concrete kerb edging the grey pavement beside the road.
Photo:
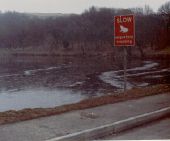
[(121, 131), (140, 126), (170, 114), (170, 107), (166, 107), (154, 112), (145, 113), (125, 120), (120, 120), (111, 124), (103, 125), (97, 128), (87, 129), (73, 134), (56, 137), (46, 141), (83, 141), (94, 140), (111, 133), (119, 133)]

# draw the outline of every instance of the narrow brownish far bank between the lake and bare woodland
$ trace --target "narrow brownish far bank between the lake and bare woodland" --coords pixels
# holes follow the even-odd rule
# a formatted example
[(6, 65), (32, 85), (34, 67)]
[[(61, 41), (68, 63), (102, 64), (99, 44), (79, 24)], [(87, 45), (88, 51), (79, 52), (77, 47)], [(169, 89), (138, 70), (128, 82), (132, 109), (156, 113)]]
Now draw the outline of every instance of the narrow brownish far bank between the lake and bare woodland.
[[(0, 57), (8, 56), (111, 56), (121, 54), (117, 52), (120, 48), (109, 48), (107, 50), (87, 50), (82, 52), (82, 50), (71, 50), (71, 49), (59, 49), (59, 50), (47, 50), (46, 48), (0, 48)], [(127, 48), (128, 49), (128, 48)], [(136, 47), (132, 48), (132, 58), (146, 58), (146, 59), (169, 59), (170, 58), (170, 47), (163, 50), (148, 50), (144, 49), (144, 56), (141, 57), (138, 49)]]

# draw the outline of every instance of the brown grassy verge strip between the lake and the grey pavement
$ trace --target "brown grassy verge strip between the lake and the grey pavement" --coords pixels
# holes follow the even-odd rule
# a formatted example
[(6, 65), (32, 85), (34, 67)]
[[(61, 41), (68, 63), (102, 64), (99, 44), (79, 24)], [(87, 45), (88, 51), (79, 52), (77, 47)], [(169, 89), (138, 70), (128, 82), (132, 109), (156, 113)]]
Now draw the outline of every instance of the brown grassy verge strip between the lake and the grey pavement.
[[(155, 85), (146, 88), (134, 88), (124, 93), (113, 93), (111, 95), (96, 97), (80, 101), (79, 103), (58, 106), (55, 108), (36, 108), (24, 109), (20, 111), (7, 111), (0, 113), (0, 124), (7, 124), (12, 122), (19, 122), (24, 120), (35, 119), (39, 117), (57, 115), (73, 110), (82, 110), (101, 106), (104, 104), (113, 104), (131, 99), (137, 99), (145, 96), (151, 96), (170, 92), (170, 85)], [(170, 94), (170, 93), (169, 93)]]

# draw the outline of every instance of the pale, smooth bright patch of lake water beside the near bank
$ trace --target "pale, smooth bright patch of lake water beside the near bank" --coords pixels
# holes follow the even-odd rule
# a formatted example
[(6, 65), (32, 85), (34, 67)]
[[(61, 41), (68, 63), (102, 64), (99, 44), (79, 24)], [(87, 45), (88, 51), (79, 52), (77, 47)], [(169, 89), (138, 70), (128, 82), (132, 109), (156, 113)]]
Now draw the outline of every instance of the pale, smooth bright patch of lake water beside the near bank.
[(24, 108), (47, 108), (75, 103), (86, 98), (80, 92), (71, 90), (28, 89), (1, 91), (0, 111), (21, 110)]

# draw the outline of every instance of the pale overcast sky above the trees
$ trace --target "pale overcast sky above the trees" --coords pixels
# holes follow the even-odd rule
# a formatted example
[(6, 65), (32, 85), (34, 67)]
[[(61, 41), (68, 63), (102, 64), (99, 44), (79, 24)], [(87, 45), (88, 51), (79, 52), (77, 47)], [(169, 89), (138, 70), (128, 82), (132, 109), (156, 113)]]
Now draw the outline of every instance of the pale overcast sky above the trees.
[(91, 6), (109, 8), (150, 7), (157, 9), (170, 0), (0, 0), (1, 11), (35, 13), (82, 13)]

